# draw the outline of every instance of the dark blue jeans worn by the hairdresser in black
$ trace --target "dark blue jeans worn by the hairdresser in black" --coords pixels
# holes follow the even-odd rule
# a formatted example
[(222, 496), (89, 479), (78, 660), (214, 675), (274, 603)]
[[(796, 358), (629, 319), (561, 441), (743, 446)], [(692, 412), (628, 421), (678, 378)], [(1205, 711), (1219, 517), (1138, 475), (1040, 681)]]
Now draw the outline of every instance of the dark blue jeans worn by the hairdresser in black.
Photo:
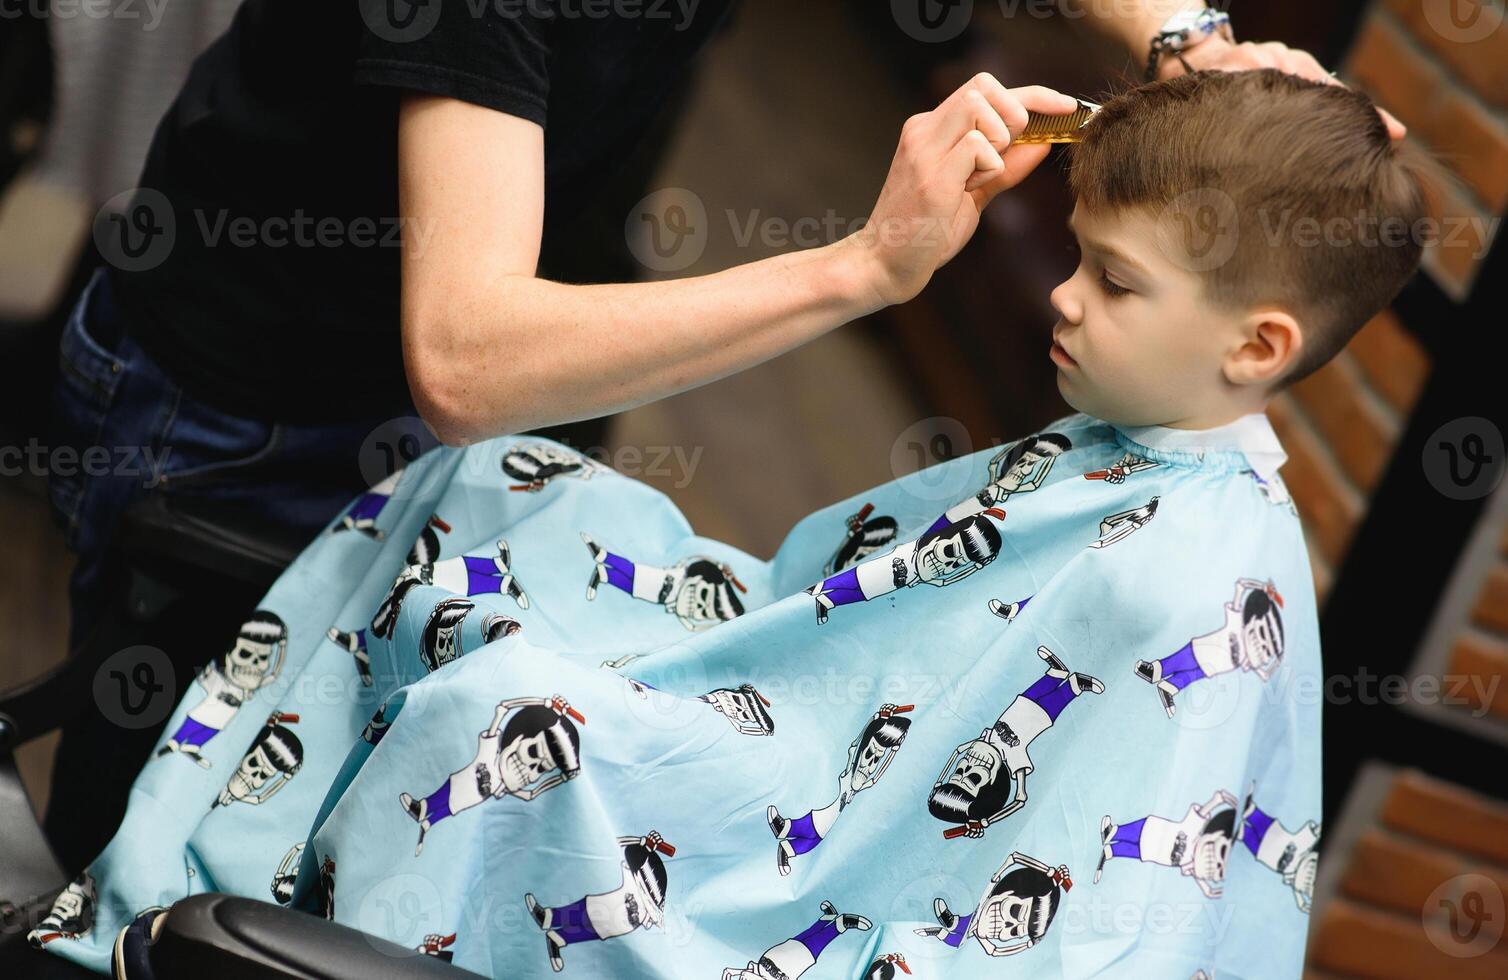
[[(300, 427), (220, 412), (185, 394), (136, 345), (110, 286), (109, 270), (97, 271), (68, 318), (53, 398), (48, 490), (66, 544), (78, 556), (69, 582), (71, 645), (109, 609), (106, 555), (133, 502), (149, 493), (216, 498), (312, 540), (368, 488), (359, 452), (386, 421)], [(338, 378), (332, 371), (332, 384)], [(276, 386), (277, 378), (267, 383)], [(60, 458), (60, 448), (74, 451), (72, 464)], [(250, 609), (234, 615), (244, 612)], [(193, 636), (185, 648), (169, 651), (181, 674), (178, 691), (195, 668), (225, 650), (234, 629), (232, 623), (223, 636)], [(160, 725), (116, 727), (87, 709), (63, 725), (47, 832), (69, 874), (115, 834), (158, 733)]]

